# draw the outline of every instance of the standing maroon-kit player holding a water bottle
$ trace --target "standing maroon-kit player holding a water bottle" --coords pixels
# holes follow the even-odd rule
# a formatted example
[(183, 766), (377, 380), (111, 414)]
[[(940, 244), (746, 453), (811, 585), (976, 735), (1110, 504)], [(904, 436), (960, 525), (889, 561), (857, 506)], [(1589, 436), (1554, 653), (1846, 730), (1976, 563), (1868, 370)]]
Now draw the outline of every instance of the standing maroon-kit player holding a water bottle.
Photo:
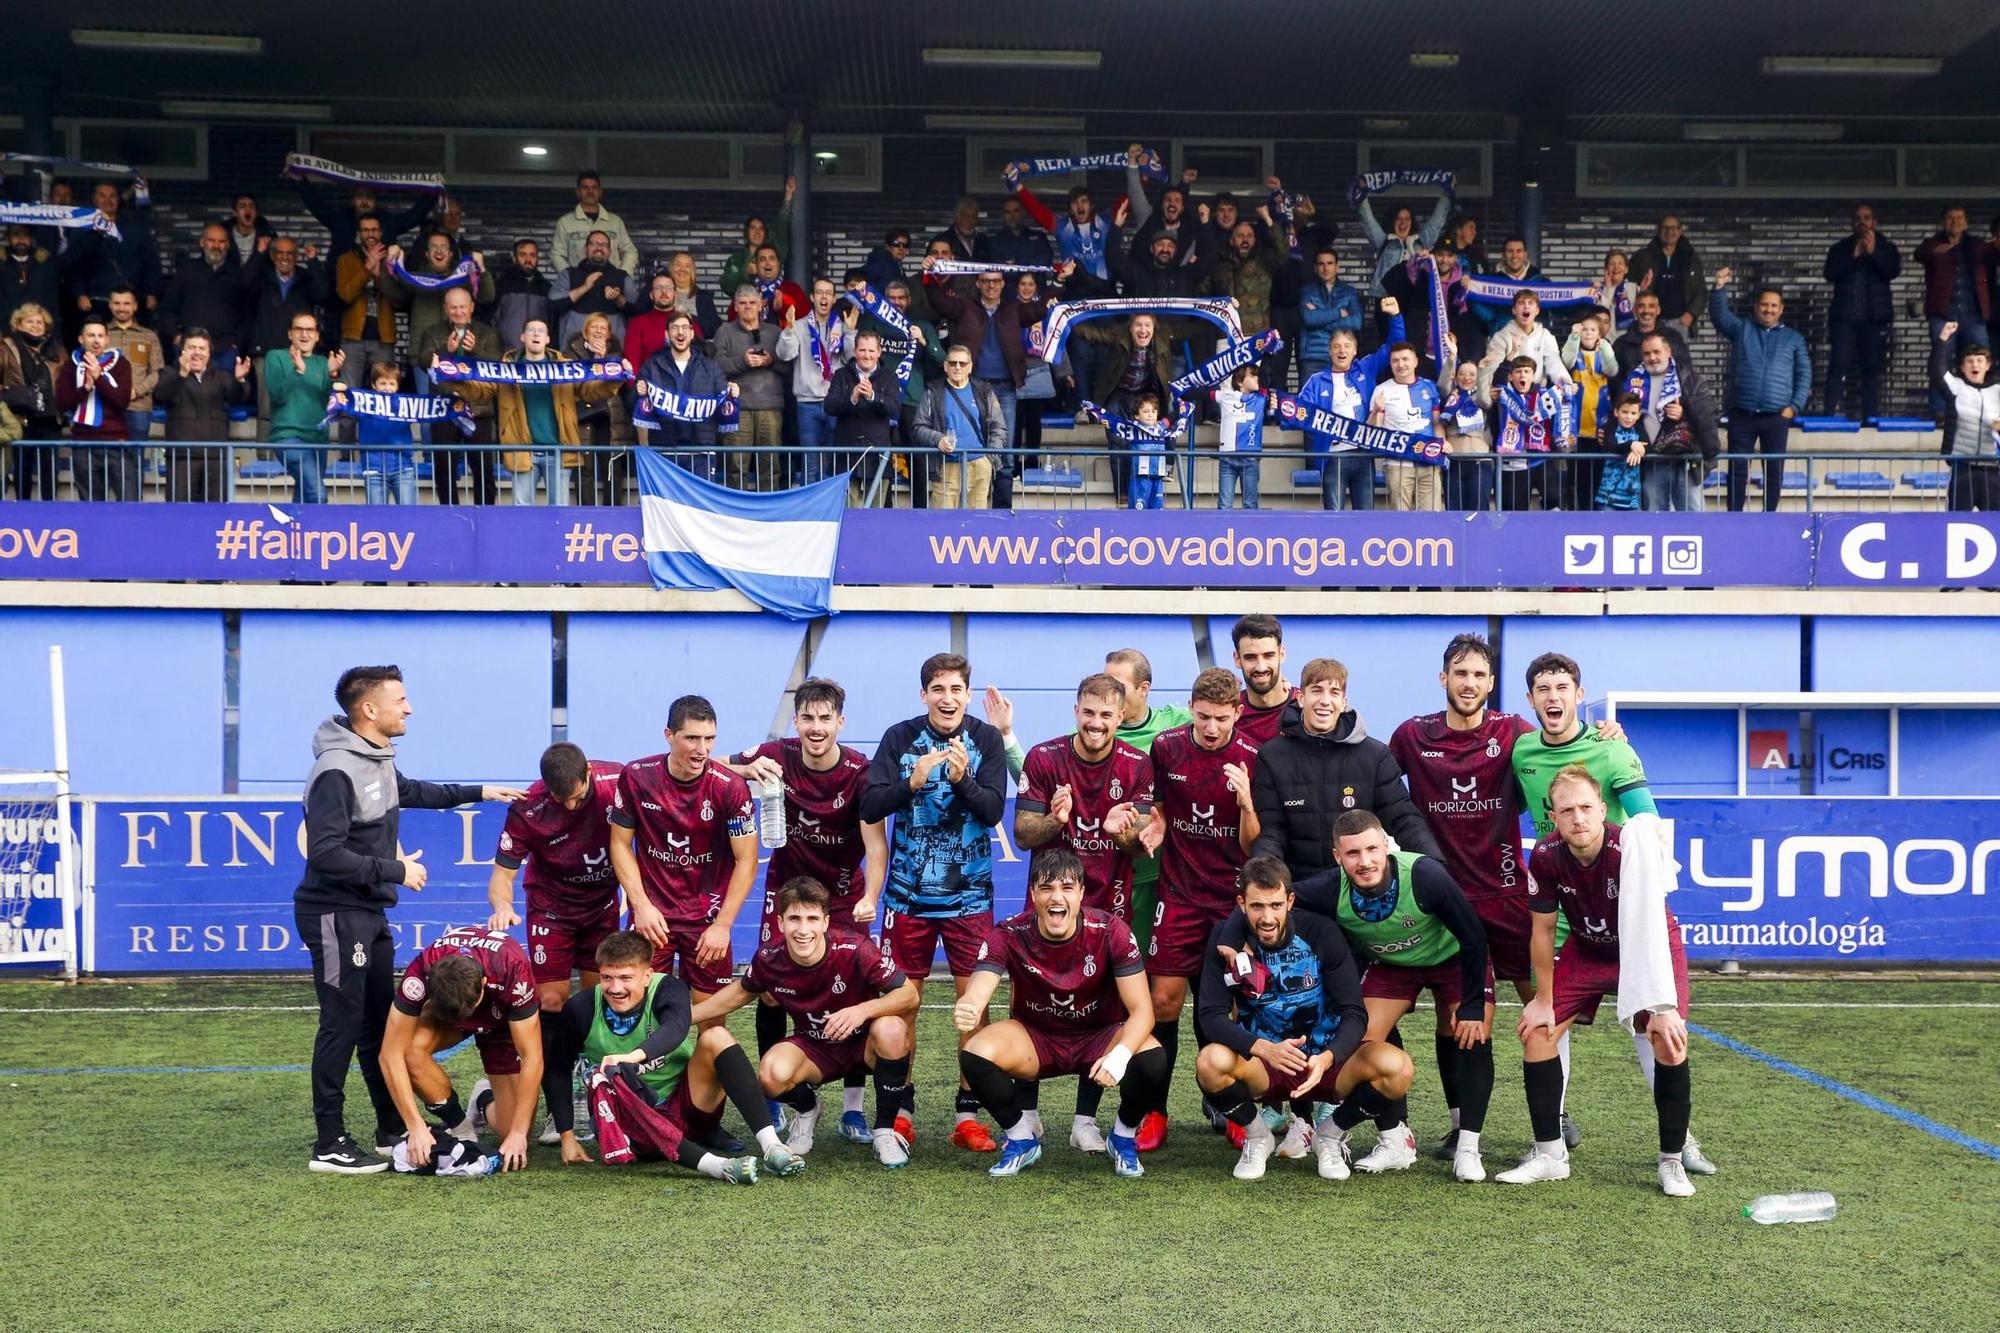
[[(784, 847), (770, 853), (764, 869), (760, 945), (778, 939), (778, 889), (800, 877), (820, 881), (830, 895), (826, 911), (834, 929), (866, 935), (876, 917), (882, 879), (888, 875), (888, 833), (882, 821), (862, 821), (868, 757), (840, 745), (846, 705), (848, 693), (838, 683), (820, 677), (802, 681), (792, 691), (792, 727), (798, 735), (766, 741), (722, 761), (738, 777), (784, 787)], [(758, 1061), (780, 1041), (784, 1009), (764, 995), (756, 1009)], [(862, 1081), (854, 1075), (844, 1091), (840, 1135), (848, 1143), (870, 1141), (868, 1119), (862, 1115)]]

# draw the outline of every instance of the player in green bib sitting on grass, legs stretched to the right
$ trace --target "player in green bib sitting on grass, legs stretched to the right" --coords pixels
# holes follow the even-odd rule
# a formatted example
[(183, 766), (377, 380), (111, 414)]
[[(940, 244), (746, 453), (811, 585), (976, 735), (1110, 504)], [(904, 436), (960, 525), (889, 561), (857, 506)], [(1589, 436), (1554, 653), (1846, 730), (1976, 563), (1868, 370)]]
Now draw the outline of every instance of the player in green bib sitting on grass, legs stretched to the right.
[[(666, 1159), (718, 1181), (754, 1185), (756, 1157), (720, 1157), (700, 1147), (720, 1129), (728, 1097), (756, 1131), (766, 1167), (778, 1175), (806, 1169), (778, 1141), (750, 1057), (722, 1025), (696, 1031), (688, 987), (652, 971), (652, 941), (638, 931), (618, 931), (598, 945), (596, 989), (572, 995), (556, 1023), (558, 1041), (550, 1049), (562, 1069), (572, 1069), (578, 1055), (596, 1067), (590, 1123), (604, 1165)], [(570, 1093), (556, 1097), (550, 1111), (562, 1133), (562, 1161), (590, 1161), (576, 1141)]]

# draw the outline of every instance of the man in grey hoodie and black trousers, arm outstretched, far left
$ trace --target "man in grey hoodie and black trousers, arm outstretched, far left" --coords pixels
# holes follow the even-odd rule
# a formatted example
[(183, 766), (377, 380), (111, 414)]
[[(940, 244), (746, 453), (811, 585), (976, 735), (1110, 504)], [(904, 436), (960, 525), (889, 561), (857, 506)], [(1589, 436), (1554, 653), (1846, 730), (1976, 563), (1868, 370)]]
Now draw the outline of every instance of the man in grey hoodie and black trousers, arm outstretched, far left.
[(416, 857), (398, 857), (398, 813), (406, 805), (442, 809), (468, 801), (518, 801), (524, 793), (418, 783), (396, 773), (392, 741), (408, 727), (410, 699), (394, 666), (344, 671), (334, 699), (344, 715), (326, 719), (312, 735), (306, 873), (292, 895), (298, 937), (312, 955), (312, 987), (320, 1001), (320, 1031), (312, 1041), (316, 1141), (306, 1165), (312, 1171), (366, 1175), (388, 1163), (348, 1137), (348, 1061), (358, 1049), (362, 1081), (376, 1107), (376, 1145), (386, 1151), (402, 1133), (402, 1117), (378, 1063), (396, 987), (396, 941), (386, 913), (402, 885), (422, 889), (428, 879)]

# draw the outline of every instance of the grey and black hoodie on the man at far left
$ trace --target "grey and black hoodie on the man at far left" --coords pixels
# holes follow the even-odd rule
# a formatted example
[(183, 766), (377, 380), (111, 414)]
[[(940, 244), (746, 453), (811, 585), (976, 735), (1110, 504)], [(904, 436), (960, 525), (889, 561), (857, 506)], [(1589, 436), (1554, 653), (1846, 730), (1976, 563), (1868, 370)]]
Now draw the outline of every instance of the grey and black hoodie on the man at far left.
[(466, 783), (418, 783), (396, 773), (394, 747), (354, 735), (340, 717), (312, 733), (306, 775), (306, 873), (292, 901), (312, 911), (384, 911), (396, 905), (402, 807), (444, 809), (480, 799)]

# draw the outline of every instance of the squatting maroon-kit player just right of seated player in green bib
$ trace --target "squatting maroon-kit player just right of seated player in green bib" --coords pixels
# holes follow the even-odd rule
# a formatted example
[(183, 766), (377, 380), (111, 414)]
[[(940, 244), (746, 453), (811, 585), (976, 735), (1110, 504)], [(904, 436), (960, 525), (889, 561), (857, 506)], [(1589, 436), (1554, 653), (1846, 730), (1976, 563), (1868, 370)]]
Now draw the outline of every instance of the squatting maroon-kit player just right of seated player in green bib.
[(816, 1089), (866, 1069), (876, 1081), (876, 1161), (902, 1167), (910, 1161), (910, 1121), (902, 1095), (910, 1085), (910, 1025), (918, 993), (892, 959), (866, 935), (834, 925), (832, 895), (806, 875), (788, 879), (776, 893), (780, 939), (750, 959), (750, 971), (694, 1007), (696, 1023), (710, 1023), (770, 995), (792, 1017), (792, 1035), (758, 1057), (758, 1083), (796, 1111), (784, 1147), (798, 1157), (812, 1151), (820, 1123)]

